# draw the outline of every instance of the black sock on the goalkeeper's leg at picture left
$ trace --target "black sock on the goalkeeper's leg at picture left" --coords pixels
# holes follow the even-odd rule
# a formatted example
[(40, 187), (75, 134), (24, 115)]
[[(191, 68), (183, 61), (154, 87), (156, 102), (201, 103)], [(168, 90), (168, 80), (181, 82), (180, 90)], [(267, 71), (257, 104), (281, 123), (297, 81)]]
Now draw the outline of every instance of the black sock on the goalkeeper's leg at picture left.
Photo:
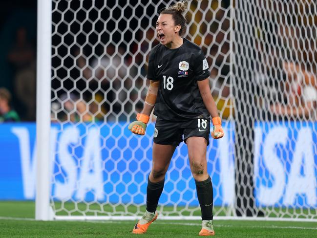
[(163, 192), (164, 181), (158, 183), (152, 183), (148, 178), (148, 187), (147, 187), (147, 211), (154, 213), (157, 208), (158, 200)]

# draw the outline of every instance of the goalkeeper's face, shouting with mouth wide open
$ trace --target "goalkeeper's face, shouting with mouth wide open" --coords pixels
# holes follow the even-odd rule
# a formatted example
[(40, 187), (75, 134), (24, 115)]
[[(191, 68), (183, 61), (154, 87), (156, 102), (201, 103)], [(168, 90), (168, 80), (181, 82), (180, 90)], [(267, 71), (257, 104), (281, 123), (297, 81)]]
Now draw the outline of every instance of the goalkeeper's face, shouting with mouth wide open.
[(156, 34), (160, 43), (166, 45), (179, 37), (180, 25), (175, 25), (171, 14), (161, 14), (156, 22)]

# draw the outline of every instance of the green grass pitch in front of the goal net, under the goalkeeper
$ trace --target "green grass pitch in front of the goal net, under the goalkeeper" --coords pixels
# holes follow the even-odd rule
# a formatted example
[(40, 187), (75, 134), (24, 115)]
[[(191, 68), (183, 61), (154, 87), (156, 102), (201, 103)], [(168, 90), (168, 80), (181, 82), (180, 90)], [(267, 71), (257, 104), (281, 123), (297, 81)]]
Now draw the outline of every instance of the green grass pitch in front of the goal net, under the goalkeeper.
[[(0, 201), (0, 237), (198, 237), (199, 220), (155, 221), (145, 235), (131, 234), (136, 221), (35, 221), (34, 202)], [(317, 237), (317, 222), (217, 220), (216, 237)]]

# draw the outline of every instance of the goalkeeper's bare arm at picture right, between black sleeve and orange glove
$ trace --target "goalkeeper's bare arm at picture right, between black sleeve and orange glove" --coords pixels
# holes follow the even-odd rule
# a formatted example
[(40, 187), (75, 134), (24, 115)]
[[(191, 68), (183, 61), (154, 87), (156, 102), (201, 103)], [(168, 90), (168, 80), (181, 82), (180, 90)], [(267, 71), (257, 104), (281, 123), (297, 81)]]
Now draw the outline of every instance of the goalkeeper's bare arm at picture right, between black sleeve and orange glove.
[(200, 91), (200, 95), (203, 98), (205, 107), (207, 108), (211, 117), (213, 118), (219, 116), (217, 106), (211, 96), (209, 79), (207, 78), (202, 81), (197, 81), (197, 84)]

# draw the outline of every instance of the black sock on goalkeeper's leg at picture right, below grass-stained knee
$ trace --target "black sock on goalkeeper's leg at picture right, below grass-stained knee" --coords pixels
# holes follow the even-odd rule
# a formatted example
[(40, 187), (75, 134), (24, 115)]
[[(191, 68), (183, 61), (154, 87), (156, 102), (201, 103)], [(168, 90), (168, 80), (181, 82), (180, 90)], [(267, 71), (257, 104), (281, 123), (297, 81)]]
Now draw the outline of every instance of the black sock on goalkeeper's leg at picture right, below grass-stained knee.
[(196, 190), (203, 220), (212, 220), (213, 192), (211, 177), (205, 181), (196, 181)]

